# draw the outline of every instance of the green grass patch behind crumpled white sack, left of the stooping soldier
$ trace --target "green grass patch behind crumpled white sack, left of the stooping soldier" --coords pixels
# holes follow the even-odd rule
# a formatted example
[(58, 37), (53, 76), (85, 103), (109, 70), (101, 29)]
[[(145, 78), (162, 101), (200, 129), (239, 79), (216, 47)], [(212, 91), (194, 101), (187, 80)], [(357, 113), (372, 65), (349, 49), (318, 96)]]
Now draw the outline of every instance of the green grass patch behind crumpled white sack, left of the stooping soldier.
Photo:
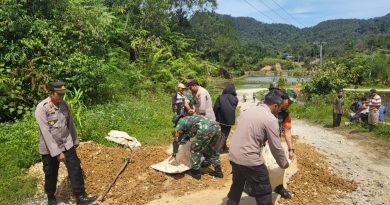
[(171, 140), (172, 111), (169, 95), (128, 97), (121, 102), (99, 105), (82, 115), (79, 129), (83, 141), (111, 145), (110, 130), (125, 131), (143, 145), (159, 145)]

